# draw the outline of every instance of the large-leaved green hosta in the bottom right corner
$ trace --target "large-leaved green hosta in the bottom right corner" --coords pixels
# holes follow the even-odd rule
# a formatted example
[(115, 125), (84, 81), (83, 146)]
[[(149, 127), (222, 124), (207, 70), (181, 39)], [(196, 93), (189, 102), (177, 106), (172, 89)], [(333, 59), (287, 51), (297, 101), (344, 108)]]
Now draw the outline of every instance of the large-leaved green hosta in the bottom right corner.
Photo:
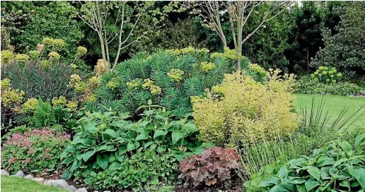
[(364, 191), (365, 134), (354, 146), (333, 140), (311, 157), (290, 160), (260, 184), (270, 191)]

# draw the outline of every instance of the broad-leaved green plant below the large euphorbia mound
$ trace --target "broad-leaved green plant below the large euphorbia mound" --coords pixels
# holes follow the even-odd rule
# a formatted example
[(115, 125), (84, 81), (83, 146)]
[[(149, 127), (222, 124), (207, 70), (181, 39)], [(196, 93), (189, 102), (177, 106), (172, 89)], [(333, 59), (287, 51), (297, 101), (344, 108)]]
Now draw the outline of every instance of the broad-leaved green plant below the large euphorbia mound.
[(62, 163), (68, 167), (64, 178), (85, 178), (91, 172), (114, 169), (132, 154), (149, 149), (160, 153), (174, 150), (180, 155), (194, 150), (199, 144), (195, 124), (188, 116), (173, 120), (170, 113), (146, 109), (137, 123), (125, 120), (128, 113), (86, 113), (75, 128), (71, 145), (62, 152)]

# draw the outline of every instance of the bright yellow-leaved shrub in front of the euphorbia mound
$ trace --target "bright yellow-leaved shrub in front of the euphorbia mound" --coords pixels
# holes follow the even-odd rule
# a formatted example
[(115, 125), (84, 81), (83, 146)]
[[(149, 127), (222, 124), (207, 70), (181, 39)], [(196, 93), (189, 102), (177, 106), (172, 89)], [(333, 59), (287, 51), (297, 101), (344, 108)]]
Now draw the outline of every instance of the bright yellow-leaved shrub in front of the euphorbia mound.
[(291, 112), (293, 76), (270, 71), (267, 83), (258, 83), (240, 71), (225, 74), (207, 97), (192, 98), (200, 139), (219, 146), (238, 146), (274, 140), (292, 133), (301, 118)]

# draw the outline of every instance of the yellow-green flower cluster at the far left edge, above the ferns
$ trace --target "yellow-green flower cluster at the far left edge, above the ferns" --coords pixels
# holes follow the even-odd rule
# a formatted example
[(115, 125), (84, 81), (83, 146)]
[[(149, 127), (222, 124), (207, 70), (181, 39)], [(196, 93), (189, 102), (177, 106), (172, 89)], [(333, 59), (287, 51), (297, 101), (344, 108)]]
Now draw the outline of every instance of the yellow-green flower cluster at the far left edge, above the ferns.
[(11, 88), (11, 81), (8, 78), (1, 80), (1, 103), (4, 107), (10, 107), (11, 105), (19, 106), (24, 94), (23, 90), (13, 90)]

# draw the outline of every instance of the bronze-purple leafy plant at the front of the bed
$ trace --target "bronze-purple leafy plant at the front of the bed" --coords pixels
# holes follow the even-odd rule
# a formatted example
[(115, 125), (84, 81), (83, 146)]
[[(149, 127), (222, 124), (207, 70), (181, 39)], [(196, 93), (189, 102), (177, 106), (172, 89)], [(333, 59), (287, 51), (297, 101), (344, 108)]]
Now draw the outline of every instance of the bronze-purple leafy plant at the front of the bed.
[(179, 165), (179, 178), (185, 180), (184, 186), (205, 184), (231, 184), (232, 173), (239, 169), (240, 157), (233, 149), (220, 147), (207, 148), (202, 155), (184, 158)]

